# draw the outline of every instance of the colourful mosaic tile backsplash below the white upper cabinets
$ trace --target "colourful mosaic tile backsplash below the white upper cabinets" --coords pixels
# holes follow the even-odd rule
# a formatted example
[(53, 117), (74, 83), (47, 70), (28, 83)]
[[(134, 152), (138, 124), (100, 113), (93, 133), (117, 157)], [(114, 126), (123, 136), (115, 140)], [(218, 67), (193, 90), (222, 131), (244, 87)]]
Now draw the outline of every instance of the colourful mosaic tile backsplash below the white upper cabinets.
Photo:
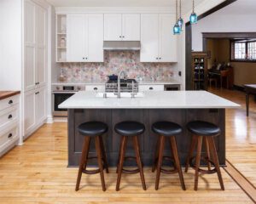
[(169, 81), (177, 76), (177, 64), (141, 63), (138, 51), (106, 51), (103, 63), (62, 63), (67, 82), (107, 82), (109, 75), (125, 71), (138, 81)]

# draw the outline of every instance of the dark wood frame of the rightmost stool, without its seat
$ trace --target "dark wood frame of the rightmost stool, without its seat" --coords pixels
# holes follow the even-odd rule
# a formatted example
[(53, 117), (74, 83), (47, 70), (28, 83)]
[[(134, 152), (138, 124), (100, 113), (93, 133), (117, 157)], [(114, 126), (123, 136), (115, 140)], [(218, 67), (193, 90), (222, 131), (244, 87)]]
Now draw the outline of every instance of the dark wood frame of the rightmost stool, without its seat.
[[(199, 175), (199, 173), (204, 173), (204, 174), (217, 173), (220, 187), (221, 187), (222, 190), (224, 190), (224, 182), (223, 182), (223, 178), (221, 176), (219, 163), (218, 163), (217, 150), (216, 150), (216, 146), (215, 146), (215, 143), (214, 143), (214, 137), (216, 137), (216, 136), (218, 136), (218, 134), (217, 135), (212, 135), (212, 136), (204, 136), (204, 135), (193, 134), (193, 136), (192, 136), (192, 142), (191, 142), (190, 148), (189, 148), (189, 155), (188, 155), (187, 161), (186, 161), (185, 173), (188, 172), (189, 166), (192, 167), (193, 169), (195, 169), (194, 190), (198, 189), (198, 175)], [(206, 151), (207, 151), (207, 156), (201, 156), (201, 148), (202, 148), (203, 141), (204, 141), (205, 148), (206, 148)], [(196, 144), (197, 144), (196, 156), (193, 156)], [(212, 160), (211, 160), (211, 155), (212, 155)], [(195, 165), (193, 164), (194, 159), (195, 159)], [(208, 170), (204, 170), (204, 169), (200, 168), (201, 160), (207, 162)], [(214, 166), (213, 169), (211, 167), (212, 165)]]

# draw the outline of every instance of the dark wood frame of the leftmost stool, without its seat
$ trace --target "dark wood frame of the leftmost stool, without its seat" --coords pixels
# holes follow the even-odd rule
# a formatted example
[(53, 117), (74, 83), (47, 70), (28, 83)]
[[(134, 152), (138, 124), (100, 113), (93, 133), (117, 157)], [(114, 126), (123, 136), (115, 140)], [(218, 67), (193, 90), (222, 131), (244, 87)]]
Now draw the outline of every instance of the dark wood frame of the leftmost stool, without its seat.
[[(90, 139), (95, 138), (95, 145), (96, 145), (96, 154), (97, 156), (91, 156), (88, 157), (89, 155), (89, 150), (90, 150)], [(86, 170), (86, 165), (87, 161), (90, 159), (97, 159), (99, 168), (96, 170)], [(78, 178), (77, 178), (77, 184), (76, 184), (76, 191), (79, 190), (79, 185), (82, 177), (82, 173), (85, 174), (96, 174), (100, 173), (101, 174), (101, 180), (102, 180), (102, 190), (106, 190), (106, 185), (105, 185), (105, 179), (104, 179), (104, 173), (103, 170), (106, 169), (106, 173), (108, 173), (108, 161), (107, 161), (107, 156), (106, 156), (106, 151), (104, 148), (104, 144), (102, 141), (102, 135), (98, 136), (84, 136), (84, 145), (83, 145), (83, 150), (82, 150), (82, 155), (80, 159), (80, 165), (79, 165), (79, 173), (78, 173)]]

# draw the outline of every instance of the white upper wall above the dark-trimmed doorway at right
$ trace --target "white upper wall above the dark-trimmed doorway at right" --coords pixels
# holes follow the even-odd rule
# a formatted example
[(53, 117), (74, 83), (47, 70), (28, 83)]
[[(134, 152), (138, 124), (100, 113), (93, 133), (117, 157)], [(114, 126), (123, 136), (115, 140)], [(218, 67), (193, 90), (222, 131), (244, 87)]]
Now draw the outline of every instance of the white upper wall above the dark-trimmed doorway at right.
[[(242, 5), (247, 7), (235, 14), (237, 8)], [(256, 32), (256, 12), (247, 12), (247, 9), (252, 7), (256, 11), (256, 4), (252, 3), (252, 0), (238, 0), (199, 20), (192, 26), (192, 49), (202, 51), (202, 32)]]

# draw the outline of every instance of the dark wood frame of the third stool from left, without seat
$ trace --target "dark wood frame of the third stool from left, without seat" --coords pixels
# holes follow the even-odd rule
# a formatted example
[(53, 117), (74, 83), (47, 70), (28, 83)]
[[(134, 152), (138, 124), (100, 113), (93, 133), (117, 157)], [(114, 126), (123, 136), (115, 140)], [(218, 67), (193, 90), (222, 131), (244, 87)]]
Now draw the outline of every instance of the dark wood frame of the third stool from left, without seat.
[[(170, 148), (172, 150), (172, 156), (163, 156), (166, 138), (169, 139)], [(163, 159), (173, 161), (174, 169), (166, 170), (166, 169), (162, 168), (161, 166), (162, 166)], [(177, 154), (177, 144), (176, 144), (175, 136), (163, 136), (163, 135), (159, 136), (157, 146), (156, 146), (155, 155), (154, 155), (154, 163), (152, 166), (152, 172), (154, 172), (155, 169), (157, 170), (155, 186), (154, 186), (155, 190), (159, 189), (160, 173), (167, 173), (167, 174), (178, 173), (179, 180), (182, 185), (182, 189), (186, 190), (186, 187), (184, 184), (184, 179), (183, 179), (183, 172), (182, 172), (178, 154)]]

